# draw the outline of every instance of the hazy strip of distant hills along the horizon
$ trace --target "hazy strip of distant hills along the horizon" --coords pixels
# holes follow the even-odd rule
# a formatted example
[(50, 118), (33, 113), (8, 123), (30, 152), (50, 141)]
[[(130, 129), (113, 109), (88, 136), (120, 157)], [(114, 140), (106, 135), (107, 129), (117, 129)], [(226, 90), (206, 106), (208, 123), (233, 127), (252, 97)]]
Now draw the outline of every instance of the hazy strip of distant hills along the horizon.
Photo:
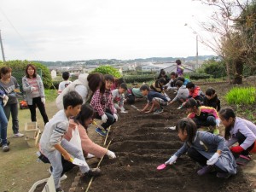
[[(205, 61), (216, 57), (215, 55), (199, 55), (198, 60)], [(88, 60), (88, 61), (37, 61), (44, 64), (47, 67), (58, 67), (58, 66), (73, 66), (73, 65), (113, 65), (118, 63), (132, 63), (132, 62), (175, 62), (177, 59), (183, 61), (195, 61), (195, 56), (188, 57), (150, 57), (150, 58), (138, 58), (135, 60), (106, 60), (106, 59), (97, 59), (97, 60)]]

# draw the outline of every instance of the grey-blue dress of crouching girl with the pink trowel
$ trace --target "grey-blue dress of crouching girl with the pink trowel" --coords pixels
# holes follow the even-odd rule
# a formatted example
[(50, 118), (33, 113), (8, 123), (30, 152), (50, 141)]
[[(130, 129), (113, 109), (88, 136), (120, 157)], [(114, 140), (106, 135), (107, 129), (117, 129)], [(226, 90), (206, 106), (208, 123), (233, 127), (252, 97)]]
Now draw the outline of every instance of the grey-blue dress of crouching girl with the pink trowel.
[(224, 142), (224, 137), (215, 136), (206, 131), (197, 131), (193, 143), (191, 145), (184, 143), (183, 147), (177, 150), (175, 155), (179, 157), (185, 154), (189, 148), (195, 148), (195, 150), (209, 160), (217, 150), (221, 150), (221, 154), (215, 166), (218, 166), (218, 168), (222, 169), (224, 172), (235, 175), (236, 160), (230, 152), (230, 148), (226, 147)]

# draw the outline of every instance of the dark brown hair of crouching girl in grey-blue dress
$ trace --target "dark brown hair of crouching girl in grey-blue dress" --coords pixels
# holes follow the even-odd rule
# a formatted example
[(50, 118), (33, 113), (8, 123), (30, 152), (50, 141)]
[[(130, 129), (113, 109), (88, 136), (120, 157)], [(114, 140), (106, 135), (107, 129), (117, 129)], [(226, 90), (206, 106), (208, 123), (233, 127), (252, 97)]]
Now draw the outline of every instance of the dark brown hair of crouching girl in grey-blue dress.
[(186, 142), (192, 144), (196, 134), (197, 126), (195, 125), (195, 122), (192, 119), (183, 118), (177, 121), (176, 130), (182, 132), (187, 131), (188, 135)]

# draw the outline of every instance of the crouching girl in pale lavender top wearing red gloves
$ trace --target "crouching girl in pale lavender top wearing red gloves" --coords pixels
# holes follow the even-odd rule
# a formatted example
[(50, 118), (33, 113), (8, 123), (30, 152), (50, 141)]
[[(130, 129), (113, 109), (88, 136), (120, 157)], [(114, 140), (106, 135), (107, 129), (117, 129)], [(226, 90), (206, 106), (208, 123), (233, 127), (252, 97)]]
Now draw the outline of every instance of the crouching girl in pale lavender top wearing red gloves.
[[(256, 147), (256, 125), (247, 119), (236, 117), (232, 108), (222, 108), (219, 116), (225, 126), (226, 145), (236, 157), (239, 154), (247, 156)], [(232, 147), (235, 143), (238, 145)]]

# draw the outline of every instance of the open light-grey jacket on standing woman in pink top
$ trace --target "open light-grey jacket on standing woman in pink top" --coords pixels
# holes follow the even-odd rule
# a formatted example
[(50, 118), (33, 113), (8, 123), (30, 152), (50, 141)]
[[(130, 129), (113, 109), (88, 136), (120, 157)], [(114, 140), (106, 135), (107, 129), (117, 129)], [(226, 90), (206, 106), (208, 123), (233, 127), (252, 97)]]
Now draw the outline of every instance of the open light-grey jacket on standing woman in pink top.
[[(41, 98), (44, 98), (44, 84), (42, 79), (39, 75), (37, 75), (37, 83), (38, 83), (38, 89), (39, 94)], [(22, 88), (26, 92), (26, 102), (28, 105), (32, 105), (32, 91), (31, 91), (31, 85), (28, 83), (26, 76), (22, 78)]]

